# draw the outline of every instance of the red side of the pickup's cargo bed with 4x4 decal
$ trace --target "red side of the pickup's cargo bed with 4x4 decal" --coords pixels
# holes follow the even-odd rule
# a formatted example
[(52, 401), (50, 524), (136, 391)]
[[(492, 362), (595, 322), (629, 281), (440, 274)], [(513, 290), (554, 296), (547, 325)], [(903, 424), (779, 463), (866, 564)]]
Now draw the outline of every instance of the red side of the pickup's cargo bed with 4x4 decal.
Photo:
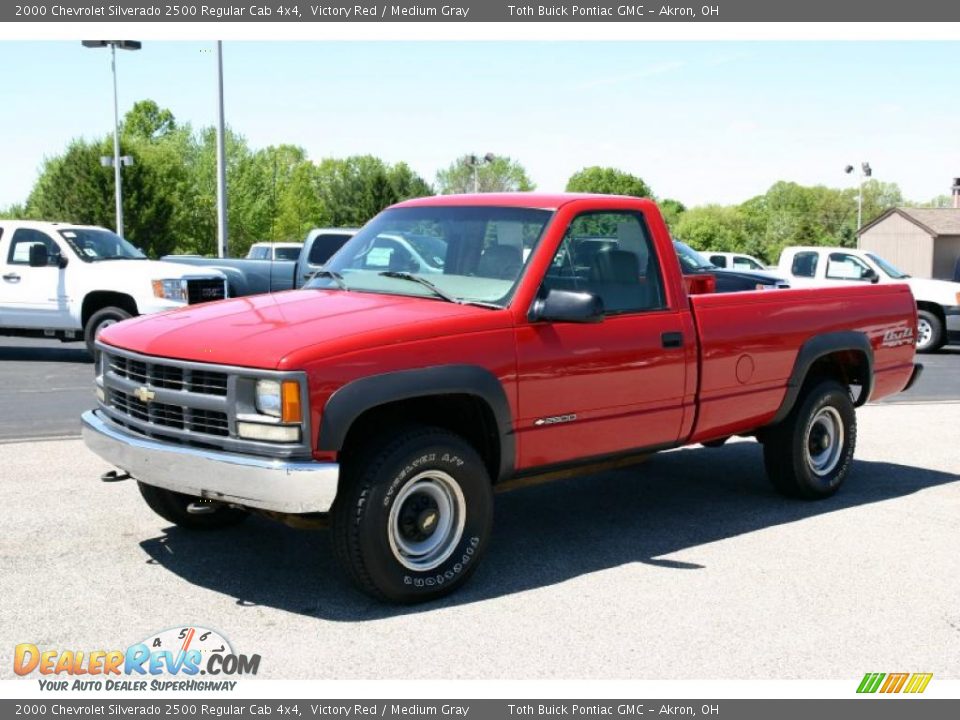
[(875, 378), (858, 404), (899, 392), (913, 372), (916, 310), (906, 285), (693, 295), (690, 307), (700, 344), (690, 442), (769, 423), (786, 395), (797, 349), (815, 336), (866, 334)]

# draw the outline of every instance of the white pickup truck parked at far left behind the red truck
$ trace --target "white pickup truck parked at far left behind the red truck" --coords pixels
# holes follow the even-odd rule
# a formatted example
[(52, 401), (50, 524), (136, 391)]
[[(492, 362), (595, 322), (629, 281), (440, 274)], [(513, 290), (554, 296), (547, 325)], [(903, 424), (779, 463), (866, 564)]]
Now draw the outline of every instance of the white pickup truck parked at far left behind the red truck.
[(134, 315), (226, 296), (223, 273), (148, 260), (100, 227), (0, 221), (0, 335), (93, 342)]

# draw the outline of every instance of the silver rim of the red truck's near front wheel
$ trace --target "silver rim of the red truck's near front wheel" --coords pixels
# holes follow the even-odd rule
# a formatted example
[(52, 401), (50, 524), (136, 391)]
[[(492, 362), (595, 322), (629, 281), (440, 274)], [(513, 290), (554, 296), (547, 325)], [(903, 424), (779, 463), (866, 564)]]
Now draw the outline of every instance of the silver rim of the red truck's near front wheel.
[(426, 470), (407, 481), (390, 508), (390, 550), (408, 570), (434, 570), (453, 554), (466, 517), (457, 481), (442, 470)]

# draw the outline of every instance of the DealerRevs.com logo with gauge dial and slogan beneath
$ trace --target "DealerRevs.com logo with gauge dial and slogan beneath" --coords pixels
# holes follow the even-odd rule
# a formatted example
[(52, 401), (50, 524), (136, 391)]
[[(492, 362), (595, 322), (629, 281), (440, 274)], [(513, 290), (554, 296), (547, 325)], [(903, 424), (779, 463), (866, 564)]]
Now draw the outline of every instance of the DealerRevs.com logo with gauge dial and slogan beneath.
[(13, 655), (17, 675), (34, 673), (41, 690), (233, 690), (236, 680), (256, 675), (260, 655), (234, 652), (216, 630), (170, 628), (126, 650), (59, 650), (20, 643)]

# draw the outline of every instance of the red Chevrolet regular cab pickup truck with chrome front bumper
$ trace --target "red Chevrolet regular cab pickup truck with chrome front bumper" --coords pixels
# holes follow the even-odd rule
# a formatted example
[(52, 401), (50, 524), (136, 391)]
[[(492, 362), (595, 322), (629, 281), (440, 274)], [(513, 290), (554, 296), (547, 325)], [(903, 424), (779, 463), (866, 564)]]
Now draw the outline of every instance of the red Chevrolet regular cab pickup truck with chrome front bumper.
[(411, 200), (305, 289), (106, 329), (84, 438), (177, 525), (329, 523), (399, 602), (467, 579), (511, 482), (746, 435), (777, 490), (831, 495), (854, 407), (919, 369), (910, 291), (695, 282), (647, 200)]

